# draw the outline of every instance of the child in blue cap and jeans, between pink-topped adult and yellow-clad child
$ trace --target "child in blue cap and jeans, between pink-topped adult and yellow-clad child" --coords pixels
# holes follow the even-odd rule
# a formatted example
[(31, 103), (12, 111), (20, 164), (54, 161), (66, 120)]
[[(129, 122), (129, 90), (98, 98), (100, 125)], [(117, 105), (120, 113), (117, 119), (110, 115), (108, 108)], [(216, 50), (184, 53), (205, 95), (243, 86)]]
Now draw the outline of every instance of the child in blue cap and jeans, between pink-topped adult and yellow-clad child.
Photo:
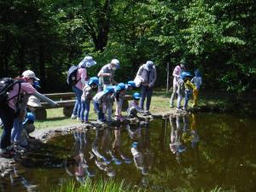
[(189, 103), (189, 98), (192, 94), (192, 90), (193, 91), (196, 91), (196, 87), (194, 84), (191, 83), (190, 79), (192, 78), (192, 75), (191, 73), (189, 72), (184, 72), (182, 73), (182, 79), (183, 79), (183, 84), (184, 84), (184, 87), (185, 87), (185, 103), (184, 103), (184, 106), (183, 106), (183, 110), (187, 110), (188, 108), (188, 103)]

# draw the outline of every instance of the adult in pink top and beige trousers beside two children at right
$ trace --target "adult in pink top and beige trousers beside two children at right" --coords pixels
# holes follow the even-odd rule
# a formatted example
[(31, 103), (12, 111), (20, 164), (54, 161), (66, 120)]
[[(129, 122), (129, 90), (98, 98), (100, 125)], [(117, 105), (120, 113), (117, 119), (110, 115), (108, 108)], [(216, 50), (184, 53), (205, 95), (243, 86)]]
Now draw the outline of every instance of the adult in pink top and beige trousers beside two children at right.
[(172, 86), (172, 96), (170, 100), (170, 107), (174, 108), (173, 102), (174, 102), (174, 97), (177, 94), (177, 82), (178, 79), (180, 79), (180, 74), (184, 71), (185, 69), (185, 62), (180, 61), (179, 64), (174, 68), (172, 76), (173, 76), (173, 86)]

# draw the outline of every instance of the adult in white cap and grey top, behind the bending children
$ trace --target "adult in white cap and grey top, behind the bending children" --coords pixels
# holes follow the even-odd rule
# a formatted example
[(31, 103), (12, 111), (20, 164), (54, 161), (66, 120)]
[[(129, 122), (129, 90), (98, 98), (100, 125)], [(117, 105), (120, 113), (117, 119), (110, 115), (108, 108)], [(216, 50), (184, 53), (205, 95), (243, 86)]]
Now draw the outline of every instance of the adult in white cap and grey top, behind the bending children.
[(101, 71), (98, 73), (99, 77), (99, 89), (105, 89), (107, 86), (117, 84), (113, 79), (115, 70), (120, 67), (120, 62), (117, 59), (113, 59), (107, 65), (103, 66)]

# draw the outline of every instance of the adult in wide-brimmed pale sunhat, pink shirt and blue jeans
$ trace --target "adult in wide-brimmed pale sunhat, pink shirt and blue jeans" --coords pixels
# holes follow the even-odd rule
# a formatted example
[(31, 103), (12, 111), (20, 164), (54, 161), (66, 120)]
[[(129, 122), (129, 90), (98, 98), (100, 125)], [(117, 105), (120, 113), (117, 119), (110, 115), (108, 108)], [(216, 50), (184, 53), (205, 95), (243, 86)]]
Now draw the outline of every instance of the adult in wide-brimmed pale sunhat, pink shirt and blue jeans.
[(96, 61), (93, 60), (92, 56), (85, 56), (84, 60), (79, 63), (79, 69), (77, 72), (77, 79), (78, 82), (72, 86), (72, 90), (75, 93), (76, 96), (76, 102), (73, 108), (73, 113), (71, 115), (71, 119), (80, 119), (80, 113), (81, 113), (81, 96), (83, 95), (83, 88), (86, 84), (86, 78), (87, 78), (87, 71), (86, 67), (91, 67), (96, 65)]

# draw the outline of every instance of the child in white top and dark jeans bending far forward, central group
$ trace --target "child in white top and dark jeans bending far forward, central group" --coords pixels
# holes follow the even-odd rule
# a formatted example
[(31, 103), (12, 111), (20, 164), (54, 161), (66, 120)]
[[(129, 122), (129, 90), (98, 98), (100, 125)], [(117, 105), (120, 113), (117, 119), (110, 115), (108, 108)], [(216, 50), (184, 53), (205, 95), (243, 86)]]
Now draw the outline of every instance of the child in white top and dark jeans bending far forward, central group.
[[(108, 86), (105, 90), (98, 92), (96, 96), (93, 97), (94, 109), (98, 115), (97, 122), (103, 123), (106, 121), (105, 115), (103, 113), (103, 107), (106, 108), (108, 102), (110, 102), (110, 96), (114, 93), (113, 86)], [(109, 115), (109, 114), (108, 114)], [(110, 114), (111, 115), (111, 114)]]

